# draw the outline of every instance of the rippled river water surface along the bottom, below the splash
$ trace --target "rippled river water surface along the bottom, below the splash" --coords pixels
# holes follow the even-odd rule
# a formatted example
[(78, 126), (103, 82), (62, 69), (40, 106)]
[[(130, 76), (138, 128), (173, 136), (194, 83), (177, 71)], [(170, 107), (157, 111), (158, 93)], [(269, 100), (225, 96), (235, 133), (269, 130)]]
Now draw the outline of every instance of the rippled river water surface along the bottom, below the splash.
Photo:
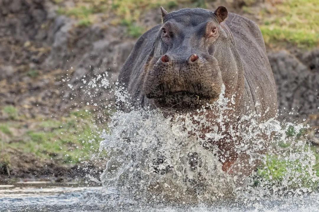
[(123, 200), (103, 187), (2, 186), (0, 211), (319, 211), (319, 194), (293, 198), (262, 198), (247, 202), (221, 199), (212, 205), (154, 204)]

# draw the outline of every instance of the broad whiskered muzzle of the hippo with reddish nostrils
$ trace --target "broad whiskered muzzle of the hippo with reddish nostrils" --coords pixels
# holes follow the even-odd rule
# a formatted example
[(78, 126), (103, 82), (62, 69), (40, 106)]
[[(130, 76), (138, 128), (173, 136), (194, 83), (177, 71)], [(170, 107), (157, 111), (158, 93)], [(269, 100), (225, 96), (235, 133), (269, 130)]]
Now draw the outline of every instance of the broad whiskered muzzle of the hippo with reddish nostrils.
[(162, 102), (171, 98), (172, 104), (190, 96), (208, 101), (216, 99), (222, 84), (219, 72), (218, 65), (201, 55), (164, 54), (146, 72), (144, 94), (148, 99), (160, 98)]

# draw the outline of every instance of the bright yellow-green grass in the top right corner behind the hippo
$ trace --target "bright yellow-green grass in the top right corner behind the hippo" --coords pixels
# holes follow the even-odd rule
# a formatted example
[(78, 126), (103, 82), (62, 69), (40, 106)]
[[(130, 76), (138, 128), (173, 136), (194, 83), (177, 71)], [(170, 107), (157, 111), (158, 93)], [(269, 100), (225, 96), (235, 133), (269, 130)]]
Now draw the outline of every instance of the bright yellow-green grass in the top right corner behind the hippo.
[(260, 25), (266, 44), (299, 48), (319, 45), (319, 1), (288, 0), (262, 11)]

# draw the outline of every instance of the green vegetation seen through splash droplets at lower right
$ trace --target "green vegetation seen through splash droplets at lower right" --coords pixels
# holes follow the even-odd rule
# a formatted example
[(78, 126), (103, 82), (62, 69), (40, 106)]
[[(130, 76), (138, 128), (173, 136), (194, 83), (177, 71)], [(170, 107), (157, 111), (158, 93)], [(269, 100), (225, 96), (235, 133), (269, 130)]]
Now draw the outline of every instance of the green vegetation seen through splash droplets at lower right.
[[(297, 133), (293, 126), (286, 130), (286, 142), (278, 141), (274, 153), (266, 155), (265, 164), (258, 168), (255, 185), (282, 185), (288, 189), (319, 188), (319, 154), (311, 145), (303, 145), (305, 129)], [(278, 154), (278, 152), (281, 152)]]

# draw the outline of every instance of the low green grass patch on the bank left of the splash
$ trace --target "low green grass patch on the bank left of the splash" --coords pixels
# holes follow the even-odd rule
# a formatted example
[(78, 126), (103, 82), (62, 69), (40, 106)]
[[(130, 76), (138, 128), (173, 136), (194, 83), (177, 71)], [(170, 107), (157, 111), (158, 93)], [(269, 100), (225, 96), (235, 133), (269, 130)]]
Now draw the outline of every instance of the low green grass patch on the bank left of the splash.
[[(11, 111), (11, 110), (10, 110)], [(40, 160), (76, 164), (99, 153), (99, 130), (90, 111), (74, 111), (60, 120), (36, 118), (0, 124), (0, 163), (10, 164), (10, 150), (33, 154)], [(7, 150), (9, 152), (7, 152)], [(8, 159), (9, 158), (9, 159)]]

